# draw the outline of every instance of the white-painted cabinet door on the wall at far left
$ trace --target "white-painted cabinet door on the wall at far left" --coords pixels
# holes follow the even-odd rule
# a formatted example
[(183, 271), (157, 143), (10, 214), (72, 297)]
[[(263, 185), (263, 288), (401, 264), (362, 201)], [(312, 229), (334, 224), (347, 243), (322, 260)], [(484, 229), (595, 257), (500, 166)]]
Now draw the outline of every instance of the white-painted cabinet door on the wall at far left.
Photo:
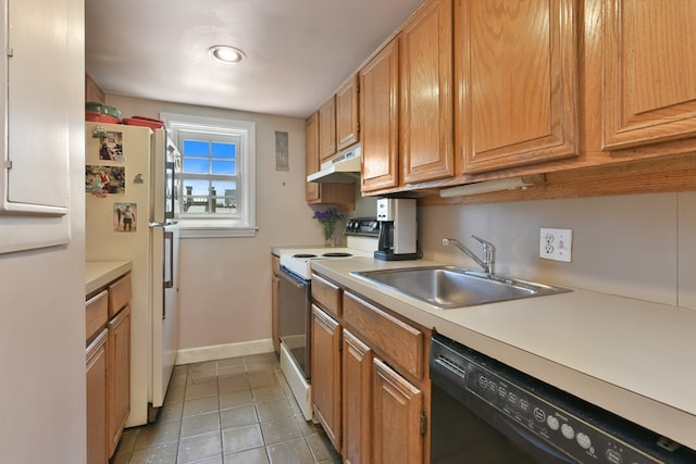
[(65, 1), (40, 8), (21, 0), (4, 4), (8, 42), (1, 66), (4, 111), (0, 117), (7, 121), (0, 147), (7, 160), (0, 176), (0, 212), (64, 215), (69, 112), (65, 99), (57, 97), (65, 95), (69, 79)]

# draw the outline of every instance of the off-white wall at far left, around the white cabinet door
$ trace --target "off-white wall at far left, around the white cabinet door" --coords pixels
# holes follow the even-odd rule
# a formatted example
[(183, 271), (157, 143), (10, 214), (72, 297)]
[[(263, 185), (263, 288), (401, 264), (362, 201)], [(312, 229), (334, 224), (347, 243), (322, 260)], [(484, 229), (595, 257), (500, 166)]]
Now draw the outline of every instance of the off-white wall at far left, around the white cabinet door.
[(0, 254), (0, 463), (86, 462), (84, 2), (66, 3), (65, 70), (36, 72), (66, 71), (71, 83), (55, 98), (70, 117), (72, 237), (63, 247)]

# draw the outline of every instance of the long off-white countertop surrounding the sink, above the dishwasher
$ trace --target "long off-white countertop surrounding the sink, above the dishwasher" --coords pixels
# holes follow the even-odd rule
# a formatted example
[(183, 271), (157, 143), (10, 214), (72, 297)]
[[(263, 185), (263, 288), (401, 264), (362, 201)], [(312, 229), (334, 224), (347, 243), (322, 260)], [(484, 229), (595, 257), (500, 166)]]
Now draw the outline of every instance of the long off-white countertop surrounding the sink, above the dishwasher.
[(696, 311), (580, 289), (437, 310), (349, 274), (438, 264), (355, 258), (311, 266), (418, 324), (696, 449)]

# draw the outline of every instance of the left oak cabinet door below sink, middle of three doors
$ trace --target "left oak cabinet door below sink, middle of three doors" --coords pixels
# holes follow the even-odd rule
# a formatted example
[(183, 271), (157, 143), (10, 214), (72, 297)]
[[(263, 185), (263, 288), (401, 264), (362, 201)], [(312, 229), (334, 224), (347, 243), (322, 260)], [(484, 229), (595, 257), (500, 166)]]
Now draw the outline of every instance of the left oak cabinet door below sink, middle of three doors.
[(343, 456), (346, 464), (372, 461), (372, 350), (344, 330)]

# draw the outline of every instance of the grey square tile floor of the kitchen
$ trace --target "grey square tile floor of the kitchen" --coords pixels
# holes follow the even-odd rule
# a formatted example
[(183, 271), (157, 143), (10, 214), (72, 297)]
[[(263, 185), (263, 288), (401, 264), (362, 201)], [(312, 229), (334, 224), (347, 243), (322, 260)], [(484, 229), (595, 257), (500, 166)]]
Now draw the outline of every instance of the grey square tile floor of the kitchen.
[(304, 421), (275, 353), (176, 366), (154, 424), (124, 430), (111, 464), (340, 463)]

